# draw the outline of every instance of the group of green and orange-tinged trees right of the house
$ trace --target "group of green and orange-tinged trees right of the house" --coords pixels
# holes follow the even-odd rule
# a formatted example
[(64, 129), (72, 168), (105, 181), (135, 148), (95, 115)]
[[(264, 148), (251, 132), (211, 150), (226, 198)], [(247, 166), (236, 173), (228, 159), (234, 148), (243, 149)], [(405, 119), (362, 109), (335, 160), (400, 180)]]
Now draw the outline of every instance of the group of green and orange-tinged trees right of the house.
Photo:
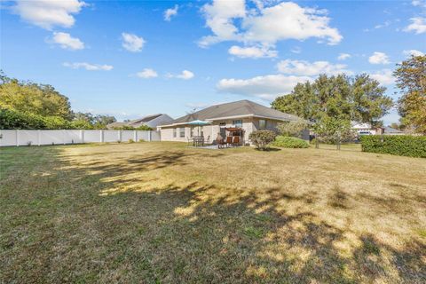
[(399, 63), (393, 75), (401, 93), (397, 102), (369, 75), (319, 75), (313, 83), (297, 83), (289, 94), (275, 99), (272, 108), (314, 122), (317, 134), (331, 137), (350, 135), (351, 122), (383, 126), (383, 115), (397, 106), (401, 119), (392, 126), (425, 135), (426, 56)]

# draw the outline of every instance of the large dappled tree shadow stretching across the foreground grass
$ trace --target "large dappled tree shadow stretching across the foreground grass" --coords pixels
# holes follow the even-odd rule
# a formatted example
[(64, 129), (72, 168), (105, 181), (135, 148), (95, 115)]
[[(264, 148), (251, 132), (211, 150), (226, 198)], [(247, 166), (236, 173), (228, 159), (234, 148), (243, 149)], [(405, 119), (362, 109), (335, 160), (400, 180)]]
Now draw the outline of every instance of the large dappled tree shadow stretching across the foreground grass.
[[(185, 165), (188, 155), (206, 157), (166, 151), (136, 155), (119, 165), (88, 161), (75, 167), (58, 152), (55, 166), (65, 170), (56, 172), (58, 180), (47, 193), (35, 185), (30, 193), (35, 195), (22, 197), (26, 199), (20, 200), (22, 207), (28, 206), (22, 215), (28, 217), (9, 221), (15, 225), (2, 235), (0, 281), (426, 280), (423, 242), (411, 240), (397, 249), (366, 233), (357, 235), (358, 245), (344, 252), (338, 244), (347, 243), (351, 228), (329, 224), (313, 210), (288, 211), (292, 202), (309, 208), (317, 202), (315, 194), (296, 196), (280, 188), (247, 192), (193, 182), (108, 193), (122, 183), (149, 185), (146, 177), (126, 175)], [(66, 184), (62, 177), (71, 182)], [(342, 200), (344, 204), (342, 194), (336, 190), (328, 206)], [(33, 201), (44, 203), (33, 205)], [(28, 223), (27, 238), (14, 231), (19, 222)]]

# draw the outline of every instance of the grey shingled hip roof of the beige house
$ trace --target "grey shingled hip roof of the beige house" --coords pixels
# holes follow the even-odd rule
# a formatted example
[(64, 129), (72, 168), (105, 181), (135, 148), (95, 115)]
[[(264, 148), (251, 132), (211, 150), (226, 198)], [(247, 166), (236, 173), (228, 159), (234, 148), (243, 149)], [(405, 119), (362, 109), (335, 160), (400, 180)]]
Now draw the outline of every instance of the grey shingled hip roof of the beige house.
[(184, 124), (195, 120), (214, 121), (231, 117), (255, 116), (280, 121), (296, 121), (298, 117), (293, 114), (285, 114), (271, 107), (256, 104), (253, 101), (244, 99), (216, 106), (209, 106), (193, 114), (186, 114), (179, 117), (170, 124)]

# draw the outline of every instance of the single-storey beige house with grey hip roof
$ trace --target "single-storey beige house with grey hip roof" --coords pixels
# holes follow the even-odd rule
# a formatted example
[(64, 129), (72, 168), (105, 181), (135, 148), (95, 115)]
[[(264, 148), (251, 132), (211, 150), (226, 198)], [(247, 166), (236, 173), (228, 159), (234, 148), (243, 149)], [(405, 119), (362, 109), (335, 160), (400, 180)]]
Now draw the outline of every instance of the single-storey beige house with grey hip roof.
[[(186, 142), (193, 136), (203, 136), (214, 141), (220, 134), (226, 137), (226, 128), (244, 130), (243, 143), (248, 143), (248, 135), (255, 130), (275, 130), (277, 123), (296, 121), (298, 117), (285, 114), (249, 100), (239, 100), (216, 106), (209, 106), (193, 114), (186, 114), (173, 122), (158, 126), (162, 141)], [(194, 126), (188, 124), (196, 120), (210, 122), (210, 125)], [(307, 133), (309, 139), (309, 133)]]

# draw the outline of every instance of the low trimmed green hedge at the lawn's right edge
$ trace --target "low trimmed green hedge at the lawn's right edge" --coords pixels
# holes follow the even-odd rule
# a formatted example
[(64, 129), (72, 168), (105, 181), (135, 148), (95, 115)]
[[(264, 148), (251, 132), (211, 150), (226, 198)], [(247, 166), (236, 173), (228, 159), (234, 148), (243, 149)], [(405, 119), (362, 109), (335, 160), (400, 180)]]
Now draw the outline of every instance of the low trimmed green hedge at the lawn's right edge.
[(426, 158), (426, 136), (369, 135), (360, 140), (363, 152)]

